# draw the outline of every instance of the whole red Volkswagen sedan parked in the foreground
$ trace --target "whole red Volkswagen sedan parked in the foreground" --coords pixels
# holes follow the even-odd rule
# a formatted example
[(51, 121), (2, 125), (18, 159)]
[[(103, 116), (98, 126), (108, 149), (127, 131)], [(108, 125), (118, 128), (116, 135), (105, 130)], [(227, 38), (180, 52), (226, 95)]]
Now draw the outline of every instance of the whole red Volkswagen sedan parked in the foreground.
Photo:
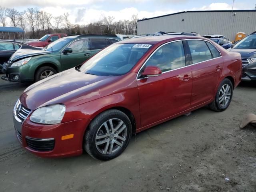
[(241, 56), (201, 37), (117, 42), (28, 87), (14, 106), (18, 140), (42, 157), (120, 155), (132, 133), (209, 105), (228, 108)]

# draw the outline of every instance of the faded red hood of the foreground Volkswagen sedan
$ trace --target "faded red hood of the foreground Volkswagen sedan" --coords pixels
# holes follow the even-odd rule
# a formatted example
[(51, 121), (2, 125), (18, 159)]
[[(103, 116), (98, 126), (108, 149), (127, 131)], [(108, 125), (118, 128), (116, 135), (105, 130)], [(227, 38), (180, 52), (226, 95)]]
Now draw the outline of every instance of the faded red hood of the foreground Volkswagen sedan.
[(31, 110), (57, 103), (65, 104), (66, 108), (77, 106), (106, 96), (109, 94), (106, 87), (119, 78), (84, 74), (72, 68), (32, 84), (20, 96), (20, 101)]

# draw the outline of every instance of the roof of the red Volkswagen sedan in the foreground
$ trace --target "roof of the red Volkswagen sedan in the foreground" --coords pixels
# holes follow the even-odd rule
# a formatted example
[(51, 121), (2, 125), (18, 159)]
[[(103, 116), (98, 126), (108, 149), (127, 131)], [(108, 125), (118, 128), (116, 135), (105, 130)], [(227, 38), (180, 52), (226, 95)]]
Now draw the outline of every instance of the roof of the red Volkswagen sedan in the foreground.
[(136, 43), (136, 44), (157, 44), (169, 42), (172, 40), (182, 40), (182, 39), (202, 39), (207, 40), (206, 38), (198, 37), (198, 36), (186, 36), (186, 35), (159, 35), (159, 36), (144, 36), (140, 38), (131, 38), (128, 40), (116, 42), (116, 44), (122, 43)]

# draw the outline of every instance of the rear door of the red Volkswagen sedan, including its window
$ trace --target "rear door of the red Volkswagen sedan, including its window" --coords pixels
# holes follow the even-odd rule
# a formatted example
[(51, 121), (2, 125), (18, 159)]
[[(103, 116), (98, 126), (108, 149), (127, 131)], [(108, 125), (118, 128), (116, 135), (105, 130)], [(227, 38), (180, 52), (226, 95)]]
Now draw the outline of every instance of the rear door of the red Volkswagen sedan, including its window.
[(223, 69), (218, 49), (204, 40), (187, 40), (192, 58), (191, 106), (208, 102), (215, 95)]

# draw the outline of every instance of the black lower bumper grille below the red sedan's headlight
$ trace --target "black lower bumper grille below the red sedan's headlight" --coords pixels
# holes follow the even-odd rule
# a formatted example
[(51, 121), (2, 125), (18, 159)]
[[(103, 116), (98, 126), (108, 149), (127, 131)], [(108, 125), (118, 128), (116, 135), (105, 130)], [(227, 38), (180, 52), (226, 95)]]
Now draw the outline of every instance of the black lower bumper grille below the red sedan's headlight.
[(54, 149), (55, 140), (50, 139), (36, 139), (26, 136), (27, 146), (36, 151), (51, 151)]

